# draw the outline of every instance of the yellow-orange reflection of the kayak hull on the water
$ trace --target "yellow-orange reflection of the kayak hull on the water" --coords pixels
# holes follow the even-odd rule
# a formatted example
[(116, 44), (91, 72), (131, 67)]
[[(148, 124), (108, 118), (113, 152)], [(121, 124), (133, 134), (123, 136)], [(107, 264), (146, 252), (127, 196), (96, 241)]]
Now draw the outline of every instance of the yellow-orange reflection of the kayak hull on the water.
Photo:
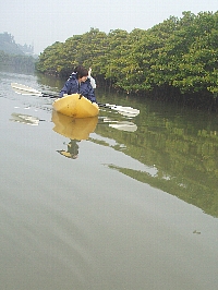
[(73, 119), (52, 111), (53, 131), (71, 140), (87, 140), (96, 129), (98, 117)]

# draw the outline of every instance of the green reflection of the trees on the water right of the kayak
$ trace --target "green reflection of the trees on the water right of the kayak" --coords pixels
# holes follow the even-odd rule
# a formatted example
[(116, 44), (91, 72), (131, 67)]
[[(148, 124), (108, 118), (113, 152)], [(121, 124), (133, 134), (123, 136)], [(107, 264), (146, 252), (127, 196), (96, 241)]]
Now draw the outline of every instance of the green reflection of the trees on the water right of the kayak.
[[(101, 95), (98, 92), (98, 99), (138, 108), (141, 113), (130, 120), (101, 111), (95, 133), (113, 140), (114, 144), (94, 138), (92, 142), (111, 146), (155, 168), (156, 174), (122, 167), (113, 169), (218, 217), (218, 118), (215, 113), (106, 92)], [(108, 123), (102, 125), (107, 118)], [(131, 121), (137, 130), (114, 130), (112, 120), (118, 124)]]

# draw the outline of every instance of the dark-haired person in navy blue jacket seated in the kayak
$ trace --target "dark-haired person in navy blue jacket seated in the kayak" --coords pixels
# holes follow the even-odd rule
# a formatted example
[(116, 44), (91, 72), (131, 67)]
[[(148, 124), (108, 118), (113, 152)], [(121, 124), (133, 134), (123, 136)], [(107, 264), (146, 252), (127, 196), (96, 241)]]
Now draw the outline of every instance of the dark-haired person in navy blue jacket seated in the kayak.
[(62, 98), (63, 94), (71, 95), (77, 93), (89, 99), (92, 102), (97, 102), (95, 92), (92, 86), (93, 81), (95, 82), (94, 78), (92, 80), (90, 73), (82, 65), (78, 65), (74, 69), (73, 73), (65, 82), (59, 97)]

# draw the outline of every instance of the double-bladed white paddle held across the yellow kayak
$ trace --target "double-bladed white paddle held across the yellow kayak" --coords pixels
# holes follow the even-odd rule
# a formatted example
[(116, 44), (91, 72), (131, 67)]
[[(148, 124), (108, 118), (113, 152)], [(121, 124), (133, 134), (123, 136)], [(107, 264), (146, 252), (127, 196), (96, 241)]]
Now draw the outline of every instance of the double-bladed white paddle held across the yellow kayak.
[[(39, 97), (49, 97), (49, 98), (59, 98), (59, 96), (43, 93), (35, 88), (32, 88), (26, 85), (17, 84), (17, 83), (11, 83), (12, 88), (17, 93), (22, 95), (32, 95), (32, 96), (39, 96)], [(135, 117), (140, 113), (140, 110), (133, 109), (131, 107), (122, 107), (111, 104), (98, 104), (99, 107), (108, 108), (111, 110), (116, 110), (120, 112), (121, 114), (128, 116), (128, 117)]]

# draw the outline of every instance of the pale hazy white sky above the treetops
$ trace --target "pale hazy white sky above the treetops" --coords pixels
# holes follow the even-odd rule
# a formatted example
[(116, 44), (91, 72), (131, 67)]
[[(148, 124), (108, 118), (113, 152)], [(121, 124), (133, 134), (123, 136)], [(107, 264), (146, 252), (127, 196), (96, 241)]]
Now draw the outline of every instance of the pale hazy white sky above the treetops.
[(33, 45), (35, 53), (56, 41), (84, 34), (90, 27), (147, 29), (183, 11), (216, 12), (218, 0), (0, 0), (0, 33), (8, 32), (17, 44)]

